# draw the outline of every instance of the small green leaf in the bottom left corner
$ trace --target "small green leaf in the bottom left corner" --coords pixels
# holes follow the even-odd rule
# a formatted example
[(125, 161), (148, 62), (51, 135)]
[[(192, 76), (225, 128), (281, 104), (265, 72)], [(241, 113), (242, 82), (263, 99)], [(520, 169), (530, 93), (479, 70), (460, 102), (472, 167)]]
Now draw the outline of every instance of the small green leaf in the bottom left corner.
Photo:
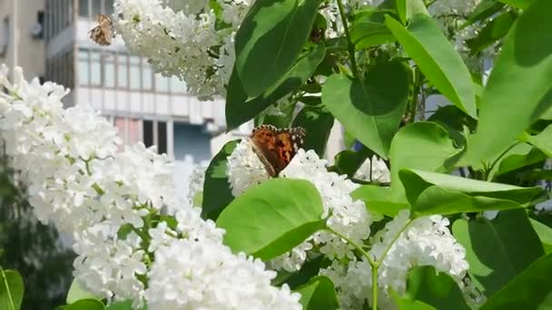
[(25, 294), (23, 278), (15, 270), (0, 267), (0, 309), (19, 310)]

